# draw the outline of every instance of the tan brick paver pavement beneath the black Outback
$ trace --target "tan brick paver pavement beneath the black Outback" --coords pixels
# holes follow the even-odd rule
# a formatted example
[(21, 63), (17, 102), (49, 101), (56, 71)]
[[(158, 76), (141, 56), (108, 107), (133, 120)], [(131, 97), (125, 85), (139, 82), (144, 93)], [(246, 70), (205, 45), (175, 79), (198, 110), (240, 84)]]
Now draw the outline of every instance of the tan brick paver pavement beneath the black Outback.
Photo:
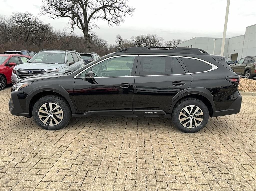
[(72, 118), (47, 131), (0, 92), (0, 190), (256, 190), (255, 97), (187, 134), (170, 119)]

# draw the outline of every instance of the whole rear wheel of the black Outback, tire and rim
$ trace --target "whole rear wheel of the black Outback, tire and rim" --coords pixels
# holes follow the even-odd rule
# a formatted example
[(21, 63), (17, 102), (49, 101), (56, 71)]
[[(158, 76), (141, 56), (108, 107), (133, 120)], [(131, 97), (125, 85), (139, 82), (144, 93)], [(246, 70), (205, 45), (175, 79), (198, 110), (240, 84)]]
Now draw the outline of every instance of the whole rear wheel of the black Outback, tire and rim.
[[(187, 113), (186, 110), (189, 113)], [(196, 113), (198, 115), (193, 115)], [(196, 98), (186, 98), (179, 101), (175, 106), (172, 114), (172, 120), (180, 131), (185, 133), (196, 133), (202, 130), (208, 123), (209, 110), (201, 100)]]

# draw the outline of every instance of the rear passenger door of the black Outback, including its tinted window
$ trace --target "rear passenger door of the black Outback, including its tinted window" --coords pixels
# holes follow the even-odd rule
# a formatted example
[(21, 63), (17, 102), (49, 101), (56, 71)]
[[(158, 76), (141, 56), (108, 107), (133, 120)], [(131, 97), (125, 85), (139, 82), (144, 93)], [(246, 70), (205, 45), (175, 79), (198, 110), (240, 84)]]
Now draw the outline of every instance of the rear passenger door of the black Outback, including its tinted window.
[[(169, 113), (172, 98), (187, 90), (191, 74), (177, 56), (141, 55), (135, 75), (134, 114)], [(185, 92), (184, 92), (185, 93)]]

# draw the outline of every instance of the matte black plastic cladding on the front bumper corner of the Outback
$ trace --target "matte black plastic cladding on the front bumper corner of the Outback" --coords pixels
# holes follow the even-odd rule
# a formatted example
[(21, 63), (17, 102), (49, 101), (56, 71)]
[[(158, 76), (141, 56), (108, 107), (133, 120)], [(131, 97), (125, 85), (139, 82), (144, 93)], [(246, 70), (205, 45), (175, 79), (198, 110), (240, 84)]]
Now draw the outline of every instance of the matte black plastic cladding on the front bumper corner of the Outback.
[[(21, 90), (18, 92), (12, 92), (11, 98), (9, 100), (9, 111), (16, 116), (25, 116), (25, 117), (31, 117), (29, 113), (24, 113), (20, 101), (18, 99), (18, 93), (22, 92)], [(24, 92), (22, 92), (24, 94)]]

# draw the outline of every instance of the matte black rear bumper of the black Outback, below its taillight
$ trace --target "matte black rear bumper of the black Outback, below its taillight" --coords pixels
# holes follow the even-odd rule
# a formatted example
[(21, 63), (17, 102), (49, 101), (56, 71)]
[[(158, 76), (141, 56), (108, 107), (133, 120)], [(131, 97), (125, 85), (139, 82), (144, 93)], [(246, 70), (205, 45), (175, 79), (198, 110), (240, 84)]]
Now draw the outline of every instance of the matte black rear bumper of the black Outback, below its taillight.
[(231, 106), (226, 110), (220, 110), (220, 111), (214, 111), (212, 112), (212, 117), (217, 116), (225, 116), (225, 115), (231, 115), (236, 114), (240, 112), (242, 105), (242, 96), (239, 95), (237, 99), (231, 104)]

